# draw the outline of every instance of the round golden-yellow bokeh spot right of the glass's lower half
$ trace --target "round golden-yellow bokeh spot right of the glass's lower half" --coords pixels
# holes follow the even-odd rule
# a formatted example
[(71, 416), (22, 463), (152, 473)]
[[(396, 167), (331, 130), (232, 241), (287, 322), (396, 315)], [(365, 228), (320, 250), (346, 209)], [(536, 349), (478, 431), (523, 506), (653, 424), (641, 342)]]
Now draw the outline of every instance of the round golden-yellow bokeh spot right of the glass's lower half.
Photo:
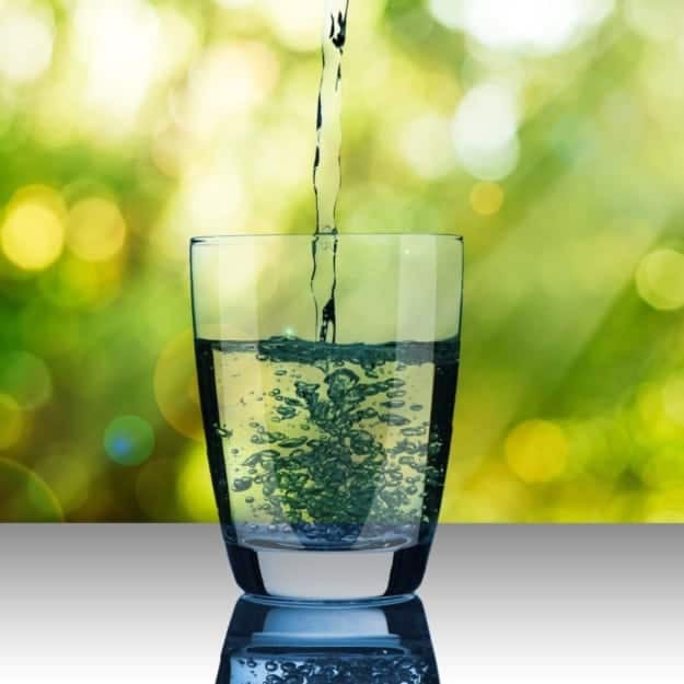
[(506, 460), (526, 483), (547, 483), (560, 476), (568, 464), (565, 431), (554, 422), (529, 420), (506, 438)]

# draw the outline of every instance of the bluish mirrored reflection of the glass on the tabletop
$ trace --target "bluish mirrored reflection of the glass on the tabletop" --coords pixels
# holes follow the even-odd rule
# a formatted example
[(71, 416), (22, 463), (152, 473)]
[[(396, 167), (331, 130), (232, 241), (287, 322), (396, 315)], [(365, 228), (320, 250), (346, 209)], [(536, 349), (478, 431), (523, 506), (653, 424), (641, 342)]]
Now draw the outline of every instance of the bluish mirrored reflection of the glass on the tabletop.
[(439, 684), (439, 676), (416, 596), (340, 607), (245, 595), (217, 684)]

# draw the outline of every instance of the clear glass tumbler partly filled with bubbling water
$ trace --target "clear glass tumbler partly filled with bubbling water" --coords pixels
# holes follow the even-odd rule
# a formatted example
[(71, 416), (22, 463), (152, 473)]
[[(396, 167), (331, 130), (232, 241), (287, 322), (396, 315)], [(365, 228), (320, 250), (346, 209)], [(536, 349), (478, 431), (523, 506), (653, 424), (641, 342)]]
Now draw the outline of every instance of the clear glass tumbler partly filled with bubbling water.
[(192, 241), (199, 390), (229, 558), (258, 595), (411, 593), (451, 448), (463, 243), (350, 234), (318, 244), (334, 264), (334, 341), (318, 336), (312, 244)]

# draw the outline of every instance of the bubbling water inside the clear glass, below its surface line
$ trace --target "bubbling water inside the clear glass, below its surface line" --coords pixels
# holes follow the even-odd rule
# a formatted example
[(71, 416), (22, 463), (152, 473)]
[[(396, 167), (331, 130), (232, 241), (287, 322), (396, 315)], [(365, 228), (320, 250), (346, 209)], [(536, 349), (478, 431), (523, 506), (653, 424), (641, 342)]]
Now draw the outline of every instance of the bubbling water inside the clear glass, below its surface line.
[(236, 537), (386, 547), (436, 522), (453, 404), (432, 395), (455, 393), (455, 340), (199, 345)]

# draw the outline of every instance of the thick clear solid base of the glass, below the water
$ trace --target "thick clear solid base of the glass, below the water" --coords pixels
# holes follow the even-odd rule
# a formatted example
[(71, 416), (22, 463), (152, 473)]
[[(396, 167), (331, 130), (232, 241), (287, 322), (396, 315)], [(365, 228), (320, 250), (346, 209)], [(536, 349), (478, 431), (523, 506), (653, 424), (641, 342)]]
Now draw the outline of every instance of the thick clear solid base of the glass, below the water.
[(429, 544), (395, 552), (255, 550), (227, 544), (235, 581), (248, 594), (303, 602), (359, 602), (414, 593)]

